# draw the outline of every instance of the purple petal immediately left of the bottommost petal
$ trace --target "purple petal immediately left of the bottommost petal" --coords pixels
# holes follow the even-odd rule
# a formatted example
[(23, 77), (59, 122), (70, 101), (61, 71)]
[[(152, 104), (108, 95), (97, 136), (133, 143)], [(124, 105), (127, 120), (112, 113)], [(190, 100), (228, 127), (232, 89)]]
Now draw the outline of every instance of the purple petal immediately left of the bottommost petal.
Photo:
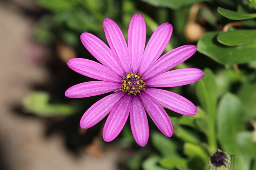
[(130, 112), (132, 95), (124, 96), (112, 109), (103, 128), (103, 139), (114, 140), (122, 131)]

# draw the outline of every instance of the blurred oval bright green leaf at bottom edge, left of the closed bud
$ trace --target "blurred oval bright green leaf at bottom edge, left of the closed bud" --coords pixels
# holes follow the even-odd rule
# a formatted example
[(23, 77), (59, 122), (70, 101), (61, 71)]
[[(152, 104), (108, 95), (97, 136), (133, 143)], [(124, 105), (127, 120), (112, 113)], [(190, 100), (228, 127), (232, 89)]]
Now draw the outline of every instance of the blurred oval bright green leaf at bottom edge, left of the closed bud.
[(188, 162), (184, 158), (163, 158), (159, 161), (159, 164), (161, 166), (164, 166), (165, 168), (178, 168), (178, 169), (184, 169), (188, 168)]

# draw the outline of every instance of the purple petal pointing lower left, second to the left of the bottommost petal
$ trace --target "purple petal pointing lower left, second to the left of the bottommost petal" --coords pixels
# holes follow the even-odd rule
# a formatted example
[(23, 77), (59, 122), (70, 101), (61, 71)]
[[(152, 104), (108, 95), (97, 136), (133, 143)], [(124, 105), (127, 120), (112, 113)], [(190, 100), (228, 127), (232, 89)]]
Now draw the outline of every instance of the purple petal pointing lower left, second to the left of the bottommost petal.
[(110, 94), (93, 104), (82, 116), (80, 127), (88, 129), (101, 121), (123, 97), (123, 92)]

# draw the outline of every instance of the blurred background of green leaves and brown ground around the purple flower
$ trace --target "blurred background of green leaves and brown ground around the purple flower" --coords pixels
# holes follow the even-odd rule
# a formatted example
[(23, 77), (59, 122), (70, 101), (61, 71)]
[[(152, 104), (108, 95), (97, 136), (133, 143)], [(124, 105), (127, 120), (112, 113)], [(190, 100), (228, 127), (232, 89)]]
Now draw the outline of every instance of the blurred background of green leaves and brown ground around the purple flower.
[[(256, 170), (255, 8), (255, 0), (0, 0), (0, 170), (209, 170), (218, 149), (236, 153), (238, 170)], [(166, 109), (174, 136), (164, 137), (149, 120), (146, 147), (134, 141), (129, 121), (110, 143), (102, 139), (106, 118), (80, 129), (82, 114), (106, 94), (64, 96), (91, 80), (66, 65), (74, 57), (95, 61), (80, 34), (106, 42), (102, 20), (110, 18), (127, 38), (136, 13), (146, 21), (147, 41), (160, 24), (172, 23), (165, 53), (197, 46), (176, 68), (205, 72), (198, 83), (168, 88), (196, 104), (198, 114)]]

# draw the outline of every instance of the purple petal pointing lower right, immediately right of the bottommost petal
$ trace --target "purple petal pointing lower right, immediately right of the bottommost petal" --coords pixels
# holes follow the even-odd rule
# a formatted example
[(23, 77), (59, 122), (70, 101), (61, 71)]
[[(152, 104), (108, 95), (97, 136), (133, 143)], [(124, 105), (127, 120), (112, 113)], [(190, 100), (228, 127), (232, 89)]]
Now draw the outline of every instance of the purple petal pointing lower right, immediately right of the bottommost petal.
[(167, 137), (173, 134), (172, 122), (164, 108), (145, 92), (140, 94), (141, 102), (158, 129)]

